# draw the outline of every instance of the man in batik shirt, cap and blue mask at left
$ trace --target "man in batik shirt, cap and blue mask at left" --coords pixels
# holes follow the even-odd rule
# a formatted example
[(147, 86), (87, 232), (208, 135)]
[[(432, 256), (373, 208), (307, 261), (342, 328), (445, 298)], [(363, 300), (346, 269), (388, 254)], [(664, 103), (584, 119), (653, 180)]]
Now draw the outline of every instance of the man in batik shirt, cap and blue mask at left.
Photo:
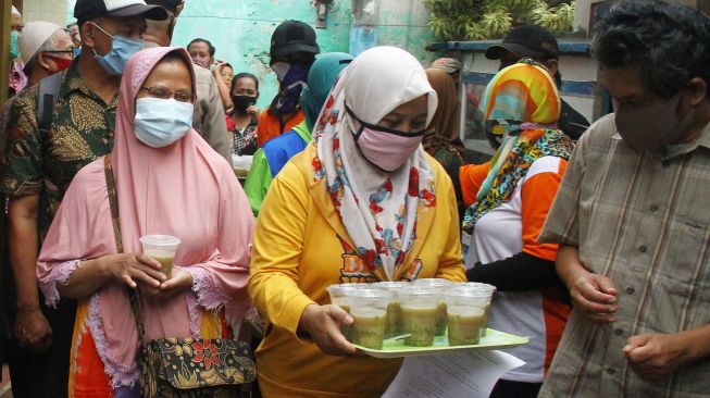
[[(144, 43), (146, 18), (165, 10), (142, 0), (77, 0), (74, 8), (84, 51), (52, 90), (54, 105), (38, 114), (39, 85), (20, 94), (10, 109), (7, 167), (0, 190), (9, 197), (9, 241), (15, 286), (8, 314), (15, 398), (67, 394), (75, 302), (47, 308), (37, 287), (39, 247), (74, 175), (113, 147), (121, 74)], [(57, 75), (54, 75), (57, 76)], [(54, 82), (54, 76), (43, 82)]]

